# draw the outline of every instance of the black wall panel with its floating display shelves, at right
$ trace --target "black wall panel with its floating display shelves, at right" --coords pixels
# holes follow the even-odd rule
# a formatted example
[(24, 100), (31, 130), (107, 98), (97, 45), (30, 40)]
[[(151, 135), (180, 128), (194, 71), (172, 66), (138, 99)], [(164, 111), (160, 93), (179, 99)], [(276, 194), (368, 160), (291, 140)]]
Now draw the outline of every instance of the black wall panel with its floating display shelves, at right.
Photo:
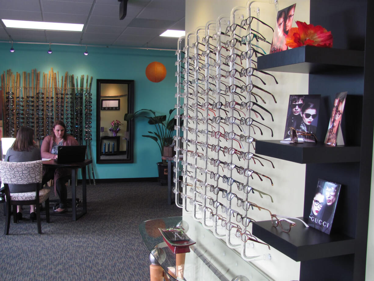
[[(309, 73), (309, 94), (321, 94), (325, 105), (320, 109), (325, 118), (319, 121), (328, 120), (335, 93), (351, 94), (341, 123), (345, 145), (256, 142), (258, 154), (306, 163), (304, 220), (309, 217), (318, 178), (342, 184), (330, 235), (301, 227), (285, 234), (271, 227), (270, 221), (253, 224), (256, 237), (301, 261), (300, 281), (365, 280), (374, 125), (370, 32), (374, 27), (374, 4), (339, 1), (337, 7), (331, 2), (311, 0), (310, 22), (332, 31), (333, 49), (303, 46), (258, 58), (261, 70)], [(351, 25), (341, 31), (340, 20)], [(324, 140), (326, 132), (327, 124), (319, 124), (318, 139)]]

